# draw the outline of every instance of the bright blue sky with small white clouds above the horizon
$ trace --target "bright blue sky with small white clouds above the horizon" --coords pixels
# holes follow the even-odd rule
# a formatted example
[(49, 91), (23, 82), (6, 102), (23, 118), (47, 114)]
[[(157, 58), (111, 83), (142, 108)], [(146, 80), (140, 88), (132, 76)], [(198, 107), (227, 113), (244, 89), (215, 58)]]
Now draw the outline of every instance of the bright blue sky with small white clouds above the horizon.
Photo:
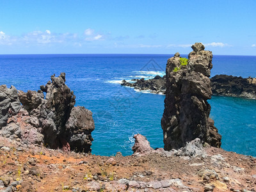
[(0, 0), (0, 54), (256, 55), (256, 1)]

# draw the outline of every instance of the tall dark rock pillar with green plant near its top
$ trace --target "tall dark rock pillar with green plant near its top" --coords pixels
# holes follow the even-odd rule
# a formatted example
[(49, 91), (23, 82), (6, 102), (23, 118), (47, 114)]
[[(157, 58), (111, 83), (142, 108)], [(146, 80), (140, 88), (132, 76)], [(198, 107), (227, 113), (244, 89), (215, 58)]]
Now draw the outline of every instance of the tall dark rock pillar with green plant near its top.
[(188, 55), (188, 65), (181, 65), (177, 52), (166, 64), (166, 98), (161, 126), (164, 149), (184, 147), (187, 142), (200, 138), (202, 143), (220, 147), (221, 136), (209, 118), (211, 106), (210, 74), (212, 52), (195, 43)]

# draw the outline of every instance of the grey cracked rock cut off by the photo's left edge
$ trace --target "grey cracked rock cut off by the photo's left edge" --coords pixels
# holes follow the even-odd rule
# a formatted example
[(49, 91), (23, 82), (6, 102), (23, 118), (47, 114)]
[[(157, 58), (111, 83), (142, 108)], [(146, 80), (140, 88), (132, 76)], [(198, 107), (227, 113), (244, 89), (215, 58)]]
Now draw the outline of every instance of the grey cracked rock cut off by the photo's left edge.
[(5, 84), (0, 86), (0, 129), (7, 124), (10, 116), (16, 115), (21, 108), (18, 92), (14, 86), (7, 88)]

